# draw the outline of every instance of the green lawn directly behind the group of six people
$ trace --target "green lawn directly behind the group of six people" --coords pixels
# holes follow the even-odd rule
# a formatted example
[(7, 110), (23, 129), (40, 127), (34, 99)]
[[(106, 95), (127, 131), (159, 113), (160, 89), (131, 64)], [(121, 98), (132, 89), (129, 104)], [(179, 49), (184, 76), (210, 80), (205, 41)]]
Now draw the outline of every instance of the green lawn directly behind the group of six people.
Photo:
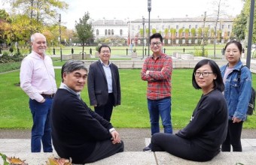
[[(190, 120), (201, 91), (191, 84), (192, 69), (174, 69), (172, 74), (172, 125), (184, 127)], [(1, 115), (0, 128), (30, 128), (32, 116), (28, 96), (17, 86), (19, 71), (0, 74)], [(256, 80), (256, 74), (253, 74)], [(254, 81), (255, 82), (255, 81)], [(60, 83), (60, 70), (56, 70)], [(150, 127), (146, 102), (147, 83), (140, 79), (140, 70), (120, 69), (121, 105), (114, 108), (111, 122), (115, 127)], [(256, 87), (256, 82), (253, 84)], [(88, 104), (87, 88), (81, 97)], [(245, 128), (256, 128), (256, 115), (248, 116)]]

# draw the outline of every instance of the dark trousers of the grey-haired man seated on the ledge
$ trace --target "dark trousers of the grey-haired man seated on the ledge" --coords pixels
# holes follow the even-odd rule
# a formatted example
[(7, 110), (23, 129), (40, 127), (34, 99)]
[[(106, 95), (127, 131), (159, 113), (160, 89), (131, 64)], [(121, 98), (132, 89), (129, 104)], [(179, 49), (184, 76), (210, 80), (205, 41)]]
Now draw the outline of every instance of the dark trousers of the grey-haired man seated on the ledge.
[(87, 157), (84, 163), (92, 163), (96, 160), (110, 157), (113, 154), (123, 151), (123, 141), (113, 144), (111, 140), (104, 140), (96, 143), (96, 147), (90, 157)]

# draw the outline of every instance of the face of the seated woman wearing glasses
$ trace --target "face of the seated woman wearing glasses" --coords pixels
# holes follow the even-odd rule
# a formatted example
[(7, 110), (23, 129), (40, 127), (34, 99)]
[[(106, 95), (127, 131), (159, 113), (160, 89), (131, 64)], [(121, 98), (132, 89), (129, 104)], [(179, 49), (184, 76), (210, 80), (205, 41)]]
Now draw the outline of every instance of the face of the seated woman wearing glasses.
[(194, 77), (197, 85), (206, 91), (213, 88), (213, 80), (216, 80), (217, 78), (216, 75), (212, 73), (210, 65), (203, 65), (201, 68), (198, 68), (194, 73)]

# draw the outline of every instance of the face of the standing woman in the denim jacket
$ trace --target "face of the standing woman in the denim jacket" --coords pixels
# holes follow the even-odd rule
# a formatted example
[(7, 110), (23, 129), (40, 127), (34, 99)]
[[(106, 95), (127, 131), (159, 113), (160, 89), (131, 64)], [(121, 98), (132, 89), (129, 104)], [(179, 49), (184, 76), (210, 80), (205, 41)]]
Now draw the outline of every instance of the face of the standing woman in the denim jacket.
[(239, 62), (239, 58), (241, 57), (241, 52), (235, 43), (230, 43), (225, 50), (225, 57), (230, 67), (236, 65)]

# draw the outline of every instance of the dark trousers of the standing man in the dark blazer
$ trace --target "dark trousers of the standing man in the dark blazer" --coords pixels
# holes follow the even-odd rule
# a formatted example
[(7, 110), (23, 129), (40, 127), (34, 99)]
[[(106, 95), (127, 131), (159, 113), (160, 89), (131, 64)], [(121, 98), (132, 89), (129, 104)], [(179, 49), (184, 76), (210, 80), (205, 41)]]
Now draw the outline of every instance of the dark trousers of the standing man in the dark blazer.
[(100, 107), (94, 107), (94, 111), (99, 115), (101, 115), (102, 118), (105, 118), (105, 120), (110, 121), (112, 111), (113, 111), (113, 106), (114, 106), (114, 94), (109, 93), (107, 104)]

